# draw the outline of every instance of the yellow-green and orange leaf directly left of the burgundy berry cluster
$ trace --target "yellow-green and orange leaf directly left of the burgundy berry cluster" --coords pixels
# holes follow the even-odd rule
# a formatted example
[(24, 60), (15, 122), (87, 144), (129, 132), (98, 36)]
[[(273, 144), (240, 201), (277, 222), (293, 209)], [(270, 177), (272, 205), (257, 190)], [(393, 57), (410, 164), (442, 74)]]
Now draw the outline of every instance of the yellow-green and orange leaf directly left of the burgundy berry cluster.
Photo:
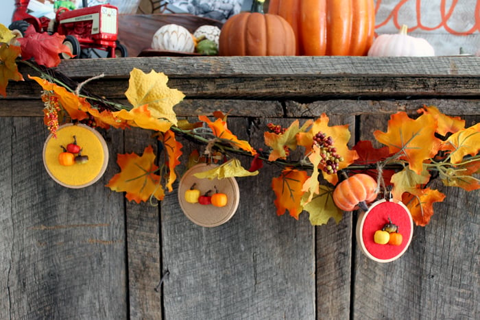
[(263, 138), (265, 139), (265, 145), (272, 148), (268, 156), (269, 161), (275, 161), (278, 158), (285, 159), (287, 153), (285, 147), (291, 150), (295, 150), (297, 147), (297, 134), (307, 130), (307, 127), (311, 125), (312, 121), (306, 121), (302, 127), (298, 120), (293, 121), (290, 126), (282, 134), (276, 134), (274, 132), (265, 132)]

